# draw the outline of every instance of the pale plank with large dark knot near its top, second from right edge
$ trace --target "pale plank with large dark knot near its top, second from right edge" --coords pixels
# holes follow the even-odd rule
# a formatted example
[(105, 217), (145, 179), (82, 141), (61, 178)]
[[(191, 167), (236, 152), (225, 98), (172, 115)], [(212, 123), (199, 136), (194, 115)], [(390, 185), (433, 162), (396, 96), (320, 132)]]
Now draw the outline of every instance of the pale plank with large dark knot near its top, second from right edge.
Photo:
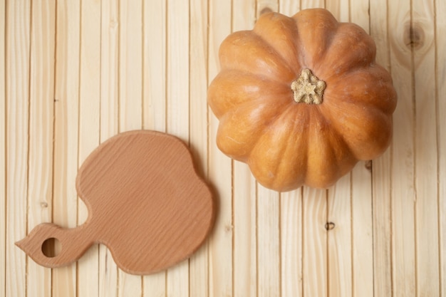
[[(415, 100), (415, 236), (417, 293), (440, 295), (438, 244), (438, 188), (430, 176), (437, 174), (437, 132), (435, 127), (435, 19), (434, 1), (412, 4), (411, 50)], [(432, 199), (433, 198), (433, 199)], [(430, 244), (425, 244), (429, 242)]]

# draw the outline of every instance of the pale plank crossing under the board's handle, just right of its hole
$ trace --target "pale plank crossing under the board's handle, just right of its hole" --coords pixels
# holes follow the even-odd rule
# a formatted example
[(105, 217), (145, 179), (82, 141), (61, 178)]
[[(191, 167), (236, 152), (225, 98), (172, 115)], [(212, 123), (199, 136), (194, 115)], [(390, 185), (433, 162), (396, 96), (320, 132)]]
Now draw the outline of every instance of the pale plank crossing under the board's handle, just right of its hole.
[[(81, 6), (59, 1), (56, 8), (56, 73), (54, 97), (53, 223), (77, 226), (79, 58)], [(53, 296), (77, 294), (77, 267), (52, 271)]]

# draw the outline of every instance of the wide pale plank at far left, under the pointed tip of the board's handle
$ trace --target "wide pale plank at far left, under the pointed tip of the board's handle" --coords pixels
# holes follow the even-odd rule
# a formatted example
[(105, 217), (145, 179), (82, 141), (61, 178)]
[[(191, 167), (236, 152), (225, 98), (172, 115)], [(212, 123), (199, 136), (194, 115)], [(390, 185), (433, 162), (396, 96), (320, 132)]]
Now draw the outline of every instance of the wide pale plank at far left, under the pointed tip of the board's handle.
[[(28, 208), (29, 51), (31, 5), (12, 2), (6, 6), (6, 259), (5, 296), (25, 297), (26, 256), (14, 242), (26, 236)], [(44, 286), (44, 284), (43, 284)]]

